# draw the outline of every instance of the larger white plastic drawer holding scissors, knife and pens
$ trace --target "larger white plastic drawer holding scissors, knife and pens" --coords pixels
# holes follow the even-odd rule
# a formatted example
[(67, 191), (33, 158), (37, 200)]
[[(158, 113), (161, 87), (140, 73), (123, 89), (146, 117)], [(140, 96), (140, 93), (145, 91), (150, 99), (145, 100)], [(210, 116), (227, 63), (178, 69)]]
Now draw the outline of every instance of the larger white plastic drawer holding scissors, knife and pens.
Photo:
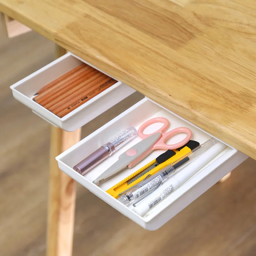
[[(73, 166), (86, 156), (90, 155), (101, 145), (105, 144), (109, 138), (112, 138), (120, 131), (129, 126), (134, 126), (136, 129), (138, 129), (143, 122), (153, 117), (167, 118), (171, 126), (169, 130), (180, 126), (188, 127), (192, 131), (191, 140), (196, 140), (200, 142), (200, 144), (208, 140), (210, 137), (213, 137), (209, 133), (198, 128), (196, 125), (191, 124), (187, 120), (181, 118), (152, 100), (144, 98), (107, 124), (103, 125), (100, 129), (93, 132), (76, 145), (56, 157), (60, 170), (67, 173), (85, 188), (88, 188), (93, 194), (110, 204), (117, 211), (123, 213), (125, 216), (138, 223), (141, 227), (148, 230), (160, 228), (164, 223), (184, 209), (188, 204), (193, 202), (198, 196), (203, 194), (207, 189), (209, 189), (212, 185), (214, 185), (217, 181), (219, 181), (228, 172), (233, 170), (237, 165), (242, 163), (247, 158), (247, 156), (243, 153), (227, 145), (226, 148), (224, 148), (217, 156), (206, 164), (206, 167), (204, 166), (200, 169), (202, 170), (201, 172), (200, 170), (196, 172), (196, 174), (190, 177), (182, 186), (177, 188), (174, 192), (172, 192), (171, 195), (166, 197), (163, 201), (141, 217), (132, 211), (132, 204), (127, 207), (105, 191), (136, 170), (140, 169), (145, 164), (151, 162), (165, 150), (157, 149), (153, 151), (139, 164), (133, 166), (131, 169), (125, 169), (123, 172), (120, 172), (100, 186), (96, 186), (93, 183), (93, 180), (95, 180), (102, 172), (115, 163), (118, 160), (119, 155), (138, 143), (140, 141), (139, 137), (129, 141), (129, 143), (125, 144), (123, 148), (120, 148), (118, 152), (115, 152), (112, 156), (95, 166), (84, 176), (74, 171)], [(149, 130), (147, 130), (146, 133), (156, 131), (159, 128), (156, 127), (157, 125), (160, 124), (158, 123), (149, 126)], [(176, 143), (180, 141), (180, 139), (183, 139), (182, 136), (183, 134), (178, 134), (167, 142), (168, 144)], [(88, 209), (88, 211), (90, 211), (90, 209)]]

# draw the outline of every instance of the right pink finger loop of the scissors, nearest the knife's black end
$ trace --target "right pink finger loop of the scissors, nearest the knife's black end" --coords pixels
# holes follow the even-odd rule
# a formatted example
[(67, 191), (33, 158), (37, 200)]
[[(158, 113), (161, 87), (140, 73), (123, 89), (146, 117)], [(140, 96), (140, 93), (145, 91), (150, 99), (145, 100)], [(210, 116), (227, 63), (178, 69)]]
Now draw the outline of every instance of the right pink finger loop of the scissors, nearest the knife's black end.
[[(166, 144), (165, 141), (174, 136), (175, 134), (185, 132), (187, 133), (187, 137), (184, 140), (181, 140), (180, 142), (176, 144)], [(153, 149), (176, 149), (184, 146), (188, 141), (190, 140), (192, 136), (192, 132), (187, 127), (178, 127), (173, 129), (170, 132), (165, 132), (162, 134), (162, 137), (156, 142), (156, 144), (153, 146)]]

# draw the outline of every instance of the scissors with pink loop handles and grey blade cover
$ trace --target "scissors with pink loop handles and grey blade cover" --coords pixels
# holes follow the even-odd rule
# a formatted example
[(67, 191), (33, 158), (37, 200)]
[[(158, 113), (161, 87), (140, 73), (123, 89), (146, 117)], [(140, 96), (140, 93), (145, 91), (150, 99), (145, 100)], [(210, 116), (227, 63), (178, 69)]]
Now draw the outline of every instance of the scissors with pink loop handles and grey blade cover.
[[(143, 131), (150, 124), (163, 123), (164, 125), (155, 132), (144, 134)], [(141, 124), (138, 130), (138, 136), (142, 139), (140, 142), (129, 148), (126, 152), (121, 154), (116, 161), (105, 172), (103, 172), (94, 184), (99, 185), (104, 181), (110, 179), (117, 173), (123, 171), (125, 168), (132, 168), (135, 164), (139, 163), (143, 158), (148, 156), (155, 149), (176, 149), (184, 146), (190, 140), (192, 132), (187, 127), (177, 127), (169, 132), (165, 132), (169, 127), (169, 121), (164, 117), (156, 117), (149, 119)], [(166, 144), (165, 141), (178, 133), (187, 133), (185, 139), (175, 144)]]

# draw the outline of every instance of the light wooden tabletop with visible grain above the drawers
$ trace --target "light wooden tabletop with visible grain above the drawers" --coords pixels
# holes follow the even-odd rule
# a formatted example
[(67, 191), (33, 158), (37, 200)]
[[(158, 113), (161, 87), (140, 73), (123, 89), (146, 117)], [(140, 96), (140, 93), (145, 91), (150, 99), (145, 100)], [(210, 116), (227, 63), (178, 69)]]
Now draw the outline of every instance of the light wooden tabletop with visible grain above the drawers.
[(254, 0), (0, 0), (0, 11), (256, 159)]

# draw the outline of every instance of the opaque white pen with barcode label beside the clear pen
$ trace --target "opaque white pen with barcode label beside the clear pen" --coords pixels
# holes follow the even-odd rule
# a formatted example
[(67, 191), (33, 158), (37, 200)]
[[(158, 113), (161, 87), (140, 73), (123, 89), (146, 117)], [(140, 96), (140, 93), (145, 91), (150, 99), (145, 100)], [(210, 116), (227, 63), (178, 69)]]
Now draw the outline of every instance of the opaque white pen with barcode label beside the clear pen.
[(202, 155), (198, 156), (196, 160), (186, 165), (182, 170), (175, 174), (172, 178), (167, 180), (162, 186), (156, 189), (151, 195), (146, 197), (140, 204), (136, 205), (132, 210), (144, 215), (156, 204), (160, 203), (165, 197), (170, 195), (175, 189), (179, 188), (182, 183), (188, 180), (194, 173), (207, 164), (214, 156), (226, 147), (225, 144), (218, 142), (211, 148), (207, 149)]

